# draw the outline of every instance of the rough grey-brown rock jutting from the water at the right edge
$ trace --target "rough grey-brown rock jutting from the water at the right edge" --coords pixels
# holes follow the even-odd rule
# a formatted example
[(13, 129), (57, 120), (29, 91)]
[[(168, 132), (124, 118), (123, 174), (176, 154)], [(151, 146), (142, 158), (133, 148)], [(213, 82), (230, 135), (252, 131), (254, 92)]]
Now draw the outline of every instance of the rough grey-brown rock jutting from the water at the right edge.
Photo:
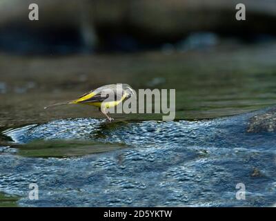
[(255, 115), (249, 119), (247, 132), (275, 132), (276, 108), (269, 109), (266, 113)]

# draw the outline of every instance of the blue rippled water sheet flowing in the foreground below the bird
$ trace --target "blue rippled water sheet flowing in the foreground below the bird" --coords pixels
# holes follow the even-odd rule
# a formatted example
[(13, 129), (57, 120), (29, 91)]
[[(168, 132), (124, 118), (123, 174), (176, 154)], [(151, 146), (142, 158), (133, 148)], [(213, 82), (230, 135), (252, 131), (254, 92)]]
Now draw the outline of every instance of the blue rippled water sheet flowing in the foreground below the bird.
[[(64, 159), (0, 155), (0, 191), (22, 195), (24, 206), (270, 206), (276, 135), (246, 133), (254, 114), (195, 122), (66, 119), (7, 131), (19, 143), (86, 139), (128, 148)], [(30, 182), (39, 184), (36, 202), (26, 197)], [(240, 182), (246, 200), (235, 199)]]

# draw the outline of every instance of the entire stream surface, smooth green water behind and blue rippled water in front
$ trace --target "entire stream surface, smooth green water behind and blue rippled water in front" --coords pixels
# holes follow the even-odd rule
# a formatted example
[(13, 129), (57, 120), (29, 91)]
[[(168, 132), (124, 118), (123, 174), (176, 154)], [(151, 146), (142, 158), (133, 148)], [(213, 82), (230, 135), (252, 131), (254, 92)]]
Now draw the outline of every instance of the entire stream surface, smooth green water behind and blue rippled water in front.
[[(275, 204), (276, 135), (246, 128), (276, 103), (276, 44), (235, 49), (0, 56), (0, 206)], [(115, 115), (108, 123), (85, 106), (43, 110), (117, 82), (175, 88), (175, 121)], [(29, 200), (30, 183), (39, 200)], [(239, 183), (246, 200), (236, 199)]]

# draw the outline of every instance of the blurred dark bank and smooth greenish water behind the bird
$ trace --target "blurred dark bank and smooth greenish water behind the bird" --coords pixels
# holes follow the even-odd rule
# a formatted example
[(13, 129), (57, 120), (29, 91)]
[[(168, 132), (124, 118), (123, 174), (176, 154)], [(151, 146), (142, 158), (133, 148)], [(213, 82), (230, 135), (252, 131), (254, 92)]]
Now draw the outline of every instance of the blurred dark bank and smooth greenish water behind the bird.
[[(37, 3), (39, 21), (28, 19)], [(94, 108), (43, 106), (103, 84), (176, 88), (177, 119), (275, 104), (276, 2), (244, 0), (0, 0), (0, 128)], [(121, 115), (119, 119), (159, 119)]]

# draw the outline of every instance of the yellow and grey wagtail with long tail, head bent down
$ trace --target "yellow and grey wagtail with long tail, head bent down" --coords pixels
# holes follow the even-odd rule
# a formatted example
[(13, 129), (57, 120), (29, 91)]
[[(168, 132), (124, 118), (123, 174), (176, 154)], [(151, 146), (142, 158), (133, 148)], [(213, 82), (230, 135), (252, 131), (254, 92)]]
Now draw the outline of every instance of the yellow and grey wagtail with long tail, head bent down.
[(115, 107), (123, 102), (124, 99), (128, 99), (133, 96), (136, 97), (135, 90), (133, 90), (128, 84), (108, 84), (94, 90), (90, 90), (88, 93), (81, 95), (81, 97), (77, 99), (68, 102), (51, 104), (44, 107), (44, 109), (66, 104), (88, 104), (99, 108), (99, 111), (106, 116), (108, 122), (111, 122), (114, 119), (107, 115), (106, 109)]

